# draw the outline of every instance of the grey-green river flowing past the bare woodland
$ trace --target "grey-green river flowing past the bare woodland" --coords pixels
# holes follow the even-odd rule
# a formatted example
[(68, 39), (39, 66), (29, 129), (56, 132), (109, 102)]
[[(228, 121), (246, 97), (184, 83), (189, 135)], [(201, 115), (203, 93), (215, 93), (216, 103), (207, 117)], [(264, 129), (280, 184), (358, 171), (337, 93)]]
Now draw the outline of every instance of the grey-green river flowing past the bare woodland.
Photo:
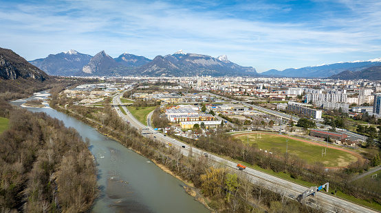
[[(38, 92), (29, 99), (47, 96), (46, 92)], [(26, 100), (12, 101), (12, 104), (21, 105)], [(45, 105), (48, 106), (47, 103)], [(66, 127), (74, 127), (83, 138), (89, 138), (89, 149), (98, 162), (98, 186), (101, 190), (91, 212), (210, 212), (184, 192), (182, 181), (89, 125), (52, 108), (27, 109), (46, 112), (63, 121)]]

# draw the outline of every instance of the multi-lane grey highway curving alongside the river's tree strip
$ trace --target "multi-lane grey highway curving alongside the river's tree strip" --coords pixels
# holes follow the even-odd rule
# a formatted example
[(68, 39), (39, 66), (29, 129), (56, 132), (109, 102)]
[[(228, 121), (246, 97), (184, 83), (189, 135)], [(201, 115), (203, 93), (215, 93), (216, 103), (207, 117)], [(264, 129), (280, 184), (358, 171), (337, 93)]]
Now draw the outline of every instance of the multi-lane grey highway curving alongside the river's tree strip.
[[(121, 103), (120, 102), (120, 96), (122, 94), (116, 95), (113, 97), (113, 103)], [(166, 145), (168, 142), (171, 142), (173, 144), (173, 147), (175, 149), (179, 149), (183, 155), (188, 156), (189, 155), (189, 146), (183, 142), (180, 142), (178, 140), (175, 140), (173, 138), (170, 138), (168, 136), (165, 136), (164, 134), (155, 131), (153, 127), (145, 126), (142, 123), (140, 123), (133, 115), (127, 110), (126, 107), (122, 106), (123, 110), (127, 113), (127, 115), (124, 115), (118, 107), (114, 107), (116, 109), (116, 112), (118, 112), (118, 115), (126, 122), (129, 122), (130, 125), (133, 127), (136, 127), (137, 129), (140, 129), (142, 132), (142, 135), (146, 137), (155, 138), (158, 142), (163, 142)], [(150, 123), (150, 122), (147, 122)], [(185, 146), (186, 148), (182, 148)], [(204, 155), (206, 153), (205, 151), (202, 151), (200, 149), (196, 149), (195, 147), (192, 147), (192, 153), (193, 155)], [(287, 181), (285, 179), (281, 179), (279, 177), (274, 177), (272, 175), (269, 175), (267, 173), (263, 173), (261, 171), (256, 171), (252, 168), (246, 168), (245, 171), (238, 171), (237, 170), (237, 163), (225, 160), (224, 158), (220, 158), (216, 155), (211, 155), (210, 153), (207, 153), (208, 159), (211, 162), (219, 163), (221, 165), (224, 165), (228, 168), (230, 168), (232, 171), (235, 171), (236, 173), (246, 173), (246, 175), (249, 175), (251, 181), (253, 184), (259, 184), (263, 183), (267, 188), (270, 190), (274, 190), (277, 192), (283, 192), (283, 195), (294, 195), (297, 197), (298, 195), (301, 195), (301, 193), (305, 192), (308, 188), (305, 186), (301, 186), (299, 184), (295, 184), (291, 181)], [(322, 183), (325, 184), (325, 183)], [(343, 208), (349, 212), (377, 212), (375, 210), (371, 210), (369, 208), (363, 207), (361, 205), (357, 205), (356, 203), (351, 203), (350, 201), (345, 201), (343, 199), (340, 199), (338, 197), (334, 197), (332, 195), (328, 195), (324, 192), (318, 192), (316, 195), (316, 203), (320, 203), (320, 208), (323, 208), (325, 212), (335, 212), (336, 208), (340, 206), (340, 208)]]

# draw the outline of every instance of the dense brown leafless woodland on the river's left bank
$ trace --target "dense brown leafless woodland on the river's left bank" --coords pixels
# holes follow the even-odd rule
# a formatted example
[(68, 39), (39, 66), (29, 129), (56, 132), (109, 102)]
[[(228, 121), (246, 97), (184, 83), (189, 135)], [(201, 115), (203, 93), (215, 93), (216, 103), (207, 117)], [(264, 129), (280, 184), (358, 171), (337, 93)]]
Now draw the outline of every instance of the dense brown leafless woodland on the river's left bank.
[(0, 101), (0, 212), (85, 212), (98, 188), (88, 143), (45, 113)]

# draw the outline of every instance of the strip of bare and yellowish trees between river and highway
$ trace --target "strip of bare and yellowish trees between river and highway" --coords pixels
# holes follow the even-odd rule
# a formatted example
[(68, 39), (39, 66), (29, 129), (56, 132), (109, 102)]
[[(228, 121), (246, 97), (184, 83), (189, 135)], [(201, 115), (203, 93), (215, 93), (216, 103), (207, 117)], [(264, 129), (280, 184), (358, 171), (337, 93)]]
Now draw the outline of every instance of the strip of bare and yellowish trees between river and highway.
[[(242, 173), (241, 175), (235, 175), (235, 171), (230, 171), (230, 169), (221, 166), (210, 167), (208, 158), (205, 156), (193, 155), (192, 157), (186, 157), (182, 155), (179, 149), (167, 148), (164, 144), (158, 143), (155, 138), (144, 138), (138, 133), (138, 129), (124, 123), (109, 105), (105, 105), (105, 108), (97, 108), (96, 111), (83, 109), (85, 107), (65, 109), (64, 106), (69, 100), (58, 94), (52, 95), (52, 97), (56, 97), (51, 102), (54, 103), (54, 105), (51, 105), (56, 110), (65, 112), (80, 121), (97, 127), (102, 134), (111, 136), (125, 147), (138, 151), (138, 153), (153, 160), (156, 164), (168, 168), (173, 175), (182, 177), (189, 184), (186, 190), (190, 194), (194, 192), (197, 200), (206, 203), (209, 208), (215, 211), (323, 212), (321, 208), (311, 208), (293, 199), (287, 199), (281, 189), (270, 189), (262, 182), (251, 184), (250, 177)], [(160, 112), (160, 110), (157, 111)], [(107, 116), (102, 119), (97, 114)], [(160, 116), (156, 117), (160, 118)], [(91, 120), (88, 118), (91, 118)], [(155, 122), (155, 119), (153, 122)], [(155, 127), (157, 126), (155, 125)], [(221, 135), (226, 136), (224, 131), (221, 131)]]

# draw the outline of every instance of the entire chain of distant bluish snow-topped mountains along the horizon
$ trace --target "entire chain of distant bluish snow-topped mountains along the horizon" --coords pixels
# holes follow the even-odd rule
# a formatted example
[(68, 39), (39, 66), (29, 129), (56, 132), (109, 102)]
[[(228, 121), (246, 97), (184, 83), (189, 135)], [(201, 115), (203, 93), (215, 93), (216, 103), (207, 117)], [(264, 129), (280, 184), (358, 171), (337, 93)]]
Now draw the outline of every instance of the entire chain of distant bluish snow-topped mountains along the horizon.
[(30, 62), (50, 75), (62, 76), (270, 76), (270, 77), (329, 77), (342, 71), (358, 72), (373, 66), (381, 66), (381, 58), (368, 61), (338, 62), (303, 68), (287, 68), (257, 73), (251, 66), (239, 66), (226, 55), (213, 58), (210, 55), (184, 53), (157, 55), (153, 60), (139, 55), (123, 53), (111, 58), (105, 51), (91, 55), (70, 50)]

